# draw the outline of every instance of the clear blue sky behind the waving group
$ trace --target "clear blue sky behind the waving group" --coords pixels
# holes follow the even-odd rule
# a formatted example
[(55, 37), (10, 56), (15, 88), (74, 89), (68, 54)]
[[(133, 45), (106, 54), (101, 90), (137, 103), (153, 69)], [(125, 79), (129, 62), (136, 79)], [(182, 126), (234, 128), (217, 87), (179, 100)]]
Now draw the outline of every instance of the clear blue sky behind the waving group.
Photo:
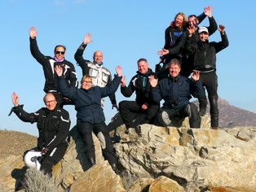
[[(231, 6), (232, 3), (232, 6)], [(217, 55), (218, 95), (230, 104), (256, 112), (254, 73), (255, 2), (250, 1), (148, 1), (148, 0), (2, 0), (0, 129), (11, 129), (38, 135), (36, 124), (20, 121), (14, 114), (7, 116), (11, 107), (11, 93), (20, 95), (20, 104), (29, 112), (44, 106), (42, 67), (29, 51), (29, 27), (38, 30), (38, 46), (44, 55), (53, 55), (55, 45), (67, 47), (66, 59), (72, 62), (77, 76), (82, 70), (73, 55), (85, 33), (93, 42), (87, 46), (84, 58), (92, 59), (95, 50), (104, 53), (104, 65), (111, 71), (121, 65), (126, 81), (137, 71), (136, 61), (148, 59), (154, 69), (159, 57), (157, 50), (164, 45), (164, 31), (179, 11), (185, 15), (199, 15), (211, 5), (217, 24), (226, 27), (230, 45)], [(208, 26), (208, 19), (201, 25)], [(210, 41), (220, 41), (219, 33)], [(124, 99), (117, 90), (117, 102)], [(76, 111), (65, 107), (76, 122)], [(106, 123), (116, 114), (106, 98)]]

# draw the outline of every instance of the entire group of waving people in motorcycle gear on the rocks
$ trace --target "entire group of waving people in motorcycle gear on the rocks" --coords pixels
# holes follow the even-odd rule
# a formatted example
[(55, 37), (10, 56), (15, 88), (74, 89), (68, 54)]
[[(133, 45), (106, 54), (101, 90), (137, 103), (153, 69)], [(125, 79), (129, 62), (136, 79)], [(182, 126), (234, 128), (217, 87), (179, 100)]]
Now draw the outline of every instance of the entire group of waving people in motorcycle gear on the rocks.
[[(77, 130), (85, 144), (90, 165), (95, 164), (95, 146), (91, 135), (93, 132), (99, 138), (104, 158), (115, 172), (117, 157), (105, 124), (105, 97), (109, 97), (113, 107), (119, 110), (126, 124), (126, 133), (136, 126), (133, 114), (143, 115), (141, 124), (161, 126), (169, 126), (174, 117), (188, 116), (190, 127), (200, 128), (201, 116), (205, 115), (207, 105), (205, 87), (210, 100), (211, 127), (218, 129), (216, 54), (228, 46), (228, 41), (224, 26), (217, 26), (211, 12), (211, 7), (205, 7), (201, 15), (188, 16), (188, 21), (183, 13), (178, 13), (166, 28), (164, 48), (158, 51), (162, 67), (157, 66), (153, 72), (147, 59), (139, 59), (138, 72), (131, 78), (129, 85), (126, 85), (126, 76), (122, 76), (120, 66), (117, 66), (112, 79), (111, 72), (104, 67), (103, 53), (100, 50), (95, 51), (92, 62), (83, 58), (84, 50), (91, 42), (90, 33), (86, 33), (74, 55), (83, 75), (81, 87), (78, 88), (73, 63), (64, 58), (65, 46), (55, 46), (54, 57), (43, 55), (38, 49), (38, 32), (31, 27), (30, 51), (43, 68), (46, 80), (43, 101), (46, 107), (28, 113), (19, 104), (19, 96), (13, 93), (11, 99), (14, 107), (11, 111), (20, 120), (38, 123), (38, 146), (27, 153), (38, 153), (38, 169), (51, 175), (52, 167), (64, 156), (70, 129), (68, 111), (63, 108), (67, 104), (74, 105), (77, 111)], [(199, 28), (197, 24), (206, 16), (210, 26)], [(209, 42), (208, 37), (217, 28), (222, 41)], [(135, 101), (121, 101), (117, 105), (115, 92), (119, 85), (121, 94), (125, 97), (130, 97), (135, 92)], [(199, 111), (194, 103), (189, 102), (192, 96), (199, 99)], [(161, 100), (164, 100), (162, 107)]]

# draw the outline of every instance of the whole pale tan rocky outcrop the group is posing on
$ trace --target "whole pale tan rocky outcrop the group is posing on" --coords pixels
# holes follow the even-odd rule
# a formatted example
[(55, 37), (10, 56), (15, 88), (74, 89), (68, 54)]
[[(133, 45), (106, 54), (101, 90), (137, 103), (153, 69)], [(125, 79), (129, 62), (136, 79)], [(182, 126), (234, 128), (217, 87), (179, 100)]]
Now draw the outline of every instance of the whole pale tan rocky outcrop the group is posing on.
[[(209, 119), (203, 118), (201, 129), (189, 129), (185, 119), (179, 128), (141, 124), (125, 134), (116, 116), (113, 124), (119, 125), (111, 135), (121, 138), (114, 144), (120, 176), (102, 157), (95, 136), (97, 164), (89, 168), (74, 128), (68, 151), (53, 170), (55, 183), (59, 191), (256, 191), (256, 128), (213, 130)], [(21, 156), (0, 160), (6, 191), (14, 190), (14, 172), (23, 167)]]

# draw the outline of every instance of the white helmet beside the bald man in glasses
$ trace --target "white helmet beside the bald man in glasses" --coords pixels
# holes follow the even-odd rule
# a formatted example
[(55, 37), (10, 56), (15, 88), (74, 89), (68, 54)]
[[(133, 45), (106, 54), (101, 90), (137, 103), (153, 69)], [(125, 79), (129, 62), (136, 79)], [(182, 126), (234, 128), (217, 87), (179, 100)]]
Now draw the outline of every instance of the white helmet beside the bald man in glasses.
[(29, 151), (24, 155), (24, 164), (28, 168), (37, 168), (40, 170), (41, 164), (38, 162), (38, 157), (41, 157), (42, 154), (40, 151)]

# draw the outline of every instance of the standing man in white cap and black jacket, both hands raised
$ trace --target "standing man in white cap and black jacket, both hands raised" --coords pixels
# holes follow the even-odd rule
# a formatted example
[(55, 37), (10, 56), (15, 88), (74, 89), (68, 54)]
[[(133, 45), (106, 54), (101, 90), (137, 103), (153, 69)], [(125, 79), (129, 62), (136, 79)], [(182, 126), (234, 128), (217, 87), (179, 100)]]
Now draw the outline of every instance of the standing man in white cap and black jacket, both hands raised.
[[(196, 41), (196, 28), (188, 29), (186, 50), (193, 58), (193, 69), (200, 72), (200, 80), (206, 88), (210, 101), (210, 120), (212, 129), (218, 129), (218, 76), (216, 74), (216, 54), (228, 46), (225, 27), (219, 25), (222, 41), (209, 42), (209, 31), (206, 27), (198, 30), (199, 41)], [(207, 103), (204, 108), (206, 109)]]

